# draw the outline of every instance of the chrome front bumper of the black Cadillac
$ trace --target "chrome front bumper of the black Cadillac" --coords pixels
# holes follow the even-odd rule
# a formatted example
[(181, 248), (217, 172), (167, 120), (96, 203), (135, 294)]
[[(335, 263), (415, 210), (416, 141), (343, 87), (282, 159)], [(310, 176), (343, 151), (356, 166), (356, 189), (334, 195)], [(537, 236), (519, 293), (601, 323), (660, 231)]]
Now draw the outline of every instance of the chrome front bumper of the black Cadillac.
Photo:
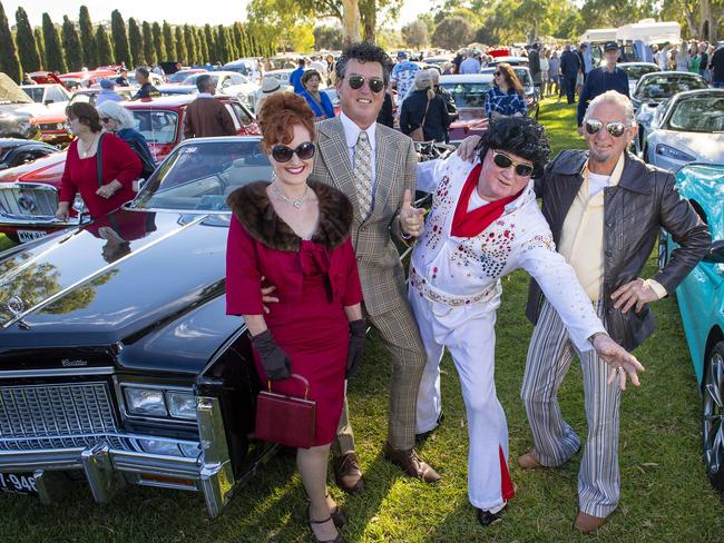
[[(98, 503), (110, 501), (128, 484), (198, 491), (204, 494), (209, 515), (216, 516), (234, 487), (218, 398), (199, 396), (196, 414), (198, 442), (125, 433), (74, 436), (90, 437), (95, 443), (85, 447), (3, 450), (0, 451), (0, 472), (32, 472), (43, 502), (57, 501), (65, 493), (67, 478), (61, 472), (78, 470), (84, 472)], [(179, 454), (144, 452), (150, 448), (150, 442), (176, 446)], [(194, 446), (199, 447), (198, 453), (186, 456), (184, 448), (188, 451)]]

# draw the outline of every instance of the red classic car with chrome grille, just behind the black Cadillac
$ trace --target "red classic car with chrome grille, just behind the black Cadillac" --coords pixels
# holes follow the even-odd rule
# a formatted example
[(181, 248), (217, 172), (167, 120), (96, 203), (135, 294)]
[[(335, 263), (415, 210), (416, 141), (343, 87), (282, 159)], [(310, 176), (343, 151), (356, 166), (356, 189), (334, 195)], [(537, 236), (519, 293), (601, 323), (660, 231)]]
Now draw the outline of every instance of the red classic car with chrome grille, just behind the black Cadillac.
[[(144, 135), (160, 164), (183, 139), (186, 107), (195, 98), (193, 95), (177, 95), (119, 103), (131, 111), (137, 130)], [(237, 135), (260, 134), (254, 113), (238, 99), (229, 96), (216, 96), (216, 99), (232, 113)], [(55, 217), (65, 166), (66, 154), (58, 152), (0, 172), (0, 233), (25, 243), (82, 220), (75, 210), (68, 221)], [(82, 208), (81, 201), (77, 200), (74, 207)]]

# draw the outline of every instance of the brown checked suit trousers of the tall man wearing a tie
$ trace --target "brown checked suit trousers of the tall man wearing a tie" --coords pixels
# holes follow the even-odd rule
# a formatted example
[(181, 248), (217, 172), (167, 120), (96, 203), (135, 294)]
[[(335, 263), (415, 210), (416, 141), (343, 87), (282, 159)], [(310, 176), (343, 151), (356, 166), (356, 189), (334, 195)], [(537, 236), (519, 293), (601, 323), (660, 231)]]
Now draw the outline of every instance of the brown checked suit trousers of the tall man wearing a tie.
[[(394, 448), (407, 451), (414, 447), (418, 388), (425, 363), (418, 324), (404, 298), (388, 312), (365, 316), (392, 357), (388, 441)], [(354, 433), (345, 397), (336, 440), (332, 443), (332, 454), (340, 456), (353, 451)]]

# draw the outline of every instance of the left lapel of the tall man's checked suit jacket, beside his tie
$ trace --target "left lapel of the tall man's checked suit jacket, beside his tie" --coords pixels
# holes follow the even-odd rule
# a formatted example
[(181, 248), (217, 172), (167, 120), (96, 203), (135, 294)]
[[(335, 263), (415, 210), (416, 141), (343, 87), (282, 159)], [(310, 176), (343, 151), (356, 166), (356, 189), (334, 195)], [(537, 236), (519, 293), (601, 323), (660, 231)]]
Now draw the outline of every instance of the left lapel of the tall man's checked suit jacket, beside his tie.
[(350, 150), (344, 139), (344, 128), (339, 117), (317, 125), (319, 159), (324, 162), (331, 184), (346, 195), (354, 207), (354, 217), (360, 218), (360, 205), (356, 198), (356, 184), (350, 162)]

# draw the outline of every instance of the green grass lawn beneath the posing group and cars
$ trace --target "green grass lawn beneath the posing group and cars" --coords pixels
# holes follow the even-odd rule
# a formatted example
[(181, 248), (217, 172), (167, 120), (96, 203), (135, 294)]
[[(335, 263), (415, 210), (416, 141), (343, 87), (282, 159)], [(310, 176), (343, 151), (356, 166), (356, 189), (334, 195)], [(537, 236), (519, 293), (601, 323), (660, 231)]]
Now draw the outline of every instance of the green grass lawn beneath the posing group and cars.
[[(584, 147), (575, 134), (575, 109), (546, 102), (540, 120), (555, 151)], [(1, 243), (1, 241), (0, 241)], [(654, 270), (654, 260), (646, 274)], [(647, 275), (646, 275), (647, 276)], [(532, 446), (519, 398), (531, 327), (524, 316), (528, 279), (503, 280), (497, 325), (497, 389), (508, 415), (515, 458)], [(724, 509), (704, 475), (699, 445), (699, 394), (673, 298), (653, 307), (657, 329), (636, 355), (646, 366), (640, 388), (622, 402), (618, 511), (595, 536), (571, 529), (577, 510), (580, 454), (556, 470), (525, 472), (511, 462), (518, 495), (503, 522), (482, 529), (467, 497), (466, 415), (458, 377), (442, 364), (446, 421), (420, 452), (443, 480), (428, 486), (403, 476), (382, 458), (390, 366), (376, 339), (368, 343), (364, 366), (351, 384), (350, 406), (366, 478), (363, 494), (349, 497), (330, 485), (351, 524), (351, 542), (722, 542)], [(581, 375), (576, 363), (560, 392), (561, 407), (585, 438)], [(228, 509), (209, 520), (202, 496), (131, 487), (111, 504), (92, 502), (85, 485), (68, 500), (42, 505), (25, 496), (0, 497), (0, 541), (12, 542), (309, 542), (306, 502), (294, 460), (278, 456)]]

